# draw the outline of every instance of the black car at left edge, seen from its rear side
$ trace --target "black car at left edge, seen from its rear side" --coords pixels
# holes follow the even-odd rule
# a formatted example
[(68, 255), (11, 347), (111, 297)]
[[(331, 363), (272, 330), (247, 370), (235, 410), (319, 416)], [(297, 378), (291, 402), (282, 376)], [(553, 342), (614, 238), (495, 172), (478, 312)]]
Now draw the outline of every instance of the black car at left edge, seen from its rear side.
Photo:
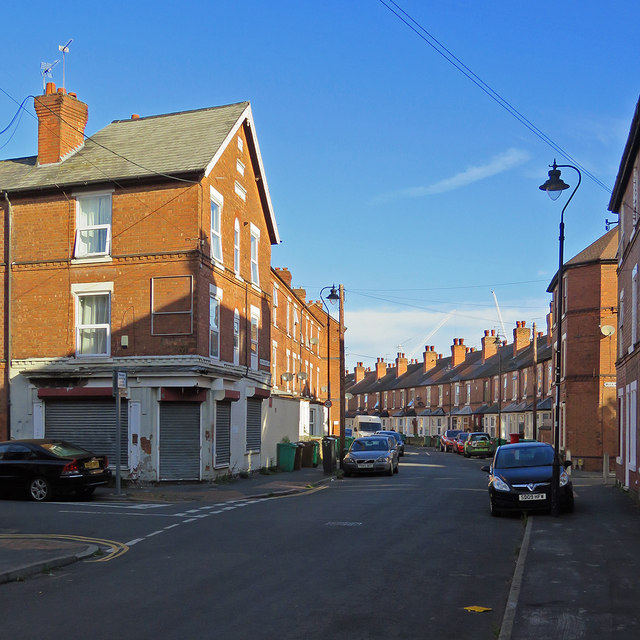
[(111, 480), (106, 456), (98, 456), (64, 440), (0, 442), (0, 491), (20, 491), (32, 500), (54, 493), (89, 497)]

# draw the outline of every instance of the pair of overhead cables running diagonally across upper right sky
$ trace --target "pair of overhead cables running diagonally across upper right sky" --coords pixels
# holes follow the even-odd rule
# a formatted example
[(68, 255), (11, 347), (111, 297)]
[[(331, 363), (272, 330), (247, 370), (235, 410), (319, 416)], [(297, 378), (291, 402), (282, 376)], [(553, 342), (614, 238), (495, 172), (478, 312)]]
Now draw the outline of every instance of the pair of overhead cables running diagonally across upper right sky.
[[(543, 131), (536, 127), (529, 119), (527, 119), (520, 111), (518, 111), (512, 104), (510, 104), (505, 98), (503, 98), (497, 91), (492, 89), (482, 78), (476, 75), (464, 62), (457, 58), (447, 47), (445, 47), (439, 40), (437, 40), (429, 31), (427, 31), (417, 20), (412, 18), (402, 7), (400, 7), (394, 0), (379, 0), (379, 2), (385, 6), (391, 13), (393, 13), (401, 22), (403, 22), (409, 29), (411, 29), (419, 38), (424, 40), (434, 51), (440, 54), (447, 62), (454, 66), (460, 73), (466, 76), (473, 84), (479, 89), (484, 91), (494, 102), (499, 104), (505, 111), (510, 113), (516, 120), (523, 124), (531, 133), (540, 138), (545, 144), (550, 146), (554, 151), (561, 156), (571, 161), (582, 172), (591, 178), (599, 187), (602, 187), (608, 193), (611, 193), (611, 187), (607, 186), (599, 178), (594, 176), (588, 169), (583, 167), (573, 156), (565, 151), (559, 144), (554, 142)], [(392, 4), (397, 11), (387, 4)], [(400, 12), (400, 13), (399, 13)], [(402, 15), (401, 15), (402, 14)], [(406, 19), (405, 17), (406, 16)], [(415, 26), (414, 26), (415, 25)]]

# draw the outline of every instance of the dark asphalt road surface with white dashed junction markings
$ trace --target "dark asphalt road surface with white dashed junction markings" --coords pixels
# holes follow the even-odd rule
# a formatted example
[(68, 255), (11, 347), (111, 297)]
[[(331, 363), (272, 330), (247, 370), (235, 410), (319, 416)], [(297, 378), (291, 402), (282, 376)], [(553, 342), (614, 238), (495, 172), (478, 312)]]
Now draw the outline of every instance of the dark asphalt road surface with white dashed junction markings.
[(3, 531), (129, 547), (2, 585), (3, 636), (496, 638), (524, 524), (489, 516), (482, 464), (415, 450), (394, 477), (226, 506), (3, 501)]

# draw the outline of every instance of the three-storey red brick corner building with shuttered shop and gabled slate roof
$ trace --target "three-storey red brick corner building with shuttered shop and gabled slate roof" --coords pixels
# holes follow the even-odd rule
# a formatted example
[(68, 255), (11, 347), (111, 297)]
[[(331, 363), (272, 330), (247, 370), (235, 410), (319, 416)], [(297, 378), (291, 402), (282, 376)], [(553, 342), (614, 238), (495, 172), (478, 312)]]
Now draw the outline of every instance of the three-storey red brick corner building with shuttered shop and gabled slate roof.
[(249, 103), (86, 139), (74, 94), (50, 83), (35, 107), (38, 155), (0, 162), (0, 438), (64, 437), (113, 461), (124, 370), (132, 478), (261, 466), (279, 235)]

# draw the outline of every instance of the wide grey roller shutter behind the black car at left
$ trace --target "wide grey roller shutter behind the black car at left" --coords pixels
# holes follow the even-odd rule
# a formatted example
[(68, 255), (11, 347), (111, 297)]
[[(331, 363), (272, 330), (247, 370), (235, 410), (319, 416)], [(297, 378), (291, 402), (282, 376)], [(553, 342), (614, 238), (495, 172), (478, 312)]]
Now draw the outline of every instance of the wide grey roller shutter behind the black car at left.
[[(120, 464), (128, 468), (127, 402), (120, 403)], [(44, 434), (67, 440), (93, 453), (106, 455), (116, 464), (115, 400), (47, 400), (44, 405)]]

